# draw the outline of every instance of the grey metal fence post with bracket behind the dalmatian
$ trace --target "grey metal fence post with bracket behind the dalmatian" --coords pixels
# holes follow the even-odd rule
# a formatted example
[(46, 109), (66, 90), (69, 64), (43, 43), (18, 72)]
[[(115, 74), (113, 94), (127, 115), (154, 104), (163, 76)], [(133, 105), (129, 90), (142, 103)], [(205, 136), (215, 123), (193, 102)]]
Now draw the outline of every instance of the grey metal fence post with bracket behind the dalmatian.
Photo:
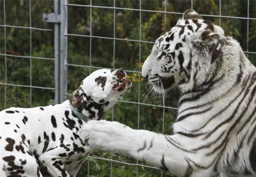
[(66, 72), (68, 58), (68, 8), (67, 0), (54, 0), (54, 13), (43, 14), (43, 21), (54, 24), (55, 103), (66, 100)]

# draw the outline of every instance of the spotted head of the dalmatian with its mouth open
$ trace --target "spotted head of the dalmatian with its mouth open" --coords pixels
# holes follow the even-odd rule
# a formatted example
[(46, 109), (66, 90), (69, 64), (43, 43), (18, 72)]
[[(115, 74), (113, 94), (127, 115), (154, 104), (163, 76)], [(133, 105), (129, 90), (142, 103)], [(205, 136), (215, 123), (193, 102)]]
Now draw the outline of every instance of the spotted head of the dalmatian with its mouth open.
[(100, 69), (83, 79), (79, 89), (72, 93), (69, 101), (80, 111), (83, 109), (107, 111), (123, 97), (131, 86), (132, 82), (126, 79), (123, 68), (113, 72)]

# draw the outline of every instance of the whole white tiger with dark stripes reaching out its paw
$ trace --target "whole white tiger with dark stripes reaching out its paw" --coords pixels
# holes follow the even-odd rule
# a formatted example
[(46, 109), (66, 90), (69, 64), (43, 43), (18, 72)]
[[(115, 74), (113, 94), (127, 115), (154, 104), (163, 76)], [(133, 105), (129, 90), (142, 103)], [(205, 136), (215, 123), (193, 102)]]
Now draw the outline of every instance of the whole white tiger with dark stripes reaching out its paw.
[(92, 149), (124, 154), (177, 176), (256, 176), (256, 68), (220, 26), (190, 9), (160, 36), (142, 76), (181, 88), (174, 135), (90, 121)]

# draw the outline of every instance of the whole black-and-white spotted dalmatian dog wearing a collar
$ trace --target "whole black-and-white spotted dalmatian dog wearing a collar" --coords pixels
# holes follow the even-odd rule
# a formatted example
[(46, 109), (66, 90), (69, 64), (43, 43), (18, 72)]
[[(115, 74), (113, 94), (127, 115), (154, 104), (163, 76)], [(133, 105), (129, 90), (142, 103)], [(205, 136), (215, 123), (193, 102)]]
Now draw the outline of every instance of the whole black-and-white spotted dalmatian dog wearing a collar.
[(122, 68), (101, 69), (61, 104), (2, 110), (0, 176), (75, 177), (91, 151), (83, 126), (101, 120), (131, 86)]

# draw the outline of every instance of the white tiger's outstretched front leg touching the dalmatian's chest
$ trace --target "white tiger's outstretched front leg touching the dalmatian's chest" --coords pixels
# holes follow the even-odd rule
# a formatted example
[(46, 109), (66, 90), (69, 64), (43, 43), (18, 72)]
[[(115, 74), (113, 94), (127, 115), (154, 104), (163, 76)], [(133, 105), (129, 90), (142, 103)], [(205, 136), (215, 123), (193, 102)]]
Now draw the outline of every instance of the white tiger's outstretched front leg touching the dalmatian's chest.
[(92, 149), (110, 151), (136, 158), (178, 176), (212, 176), (214, 165), (198, 167), (198, 161), (209, 164), (191, 150), (182, 135), (162, 135), (147, 130), (135, 130), (118, 122), (89, 121), (83, 126), (84, 137)]

